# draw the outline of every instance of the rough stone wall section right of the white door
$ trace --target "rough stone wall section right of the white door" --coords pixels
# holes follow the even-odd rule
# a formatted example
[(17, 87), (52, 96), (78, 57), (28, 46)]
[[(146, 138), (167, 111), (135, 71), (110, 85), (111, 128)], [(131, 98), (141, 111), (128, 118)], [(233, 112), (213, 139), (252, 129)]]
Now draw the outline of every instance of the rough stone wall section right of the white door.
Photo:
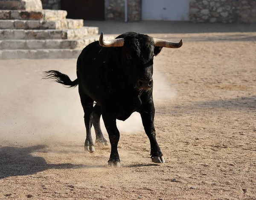
[(194, 23), (256, 23), (256, 0), (190, 0), (189, 16)]

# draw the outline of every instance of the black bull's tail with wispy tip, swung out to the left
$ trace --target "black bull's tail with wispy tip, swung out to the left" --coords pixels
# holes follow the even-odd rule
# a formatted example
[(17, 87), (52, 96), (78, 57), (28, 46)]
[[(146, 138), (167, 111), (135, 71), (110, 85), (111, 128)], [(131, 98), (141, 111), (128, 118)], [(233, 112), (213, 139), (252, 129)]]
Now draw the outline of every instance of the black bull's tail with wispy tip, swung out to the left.
[(75, 81), (71, 81), (68, 75), (63, 74), (56, 70), (50, 70), (50, 71), (44, 72), (43, 79), (53, 79), (54, 81), (63, 85), (67, 85), (69, 87), (76, 87), (78, 85), (77, 78)]

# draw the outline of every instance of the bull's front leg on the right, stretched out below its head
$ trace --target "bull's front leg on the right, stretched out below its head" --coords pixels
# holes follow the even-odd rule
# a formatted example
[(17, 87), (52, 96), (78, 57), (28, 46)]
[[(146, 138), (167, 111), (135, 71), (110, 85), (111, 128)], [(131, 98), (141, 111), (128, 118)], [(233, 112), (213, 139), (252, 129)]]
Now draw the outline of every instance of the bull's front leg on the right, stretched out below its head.
[(155, 109), (153, 100), (144, 104), (142, 110), (140, 111), (143, 127), (150, 141), (151, 159), (156, 163), (165, 163), (163, 153), (157, 144), (156, 131), (154, 128), (154, 114)]

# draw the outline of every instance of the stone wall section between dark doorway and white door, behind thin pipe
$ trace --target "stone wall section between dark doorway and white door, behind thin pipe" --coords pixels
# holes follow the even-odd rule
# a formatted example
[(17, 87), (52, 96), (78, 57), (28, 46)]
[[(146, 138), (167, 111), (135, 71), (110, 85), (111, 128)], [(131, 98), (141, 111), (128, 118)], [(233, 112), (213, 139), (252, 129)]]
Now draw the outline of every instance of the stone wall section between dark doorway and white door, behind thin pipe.
[[(106, 20), (125, 20), (125, 0), (105, 0)], [(141, 20), (141, 0), (128, 0), (128, 21)]]

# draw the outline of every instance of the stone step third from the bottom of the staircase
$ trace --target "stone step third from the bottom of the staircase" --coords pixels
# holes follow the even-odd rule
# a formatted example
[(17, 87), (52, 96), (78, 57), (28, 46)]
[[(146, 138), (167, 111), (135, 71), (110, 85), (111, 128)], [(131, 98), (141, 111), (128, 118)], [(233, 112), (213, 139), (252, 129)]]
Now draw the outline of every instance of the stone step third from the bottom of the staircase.
[(47, 40), (47, 39), (81, 39), (92, 37), (99, 32), (98, 27), (84, 26), (80, 29), (65, 30), (0, 30), (0, 40)]

